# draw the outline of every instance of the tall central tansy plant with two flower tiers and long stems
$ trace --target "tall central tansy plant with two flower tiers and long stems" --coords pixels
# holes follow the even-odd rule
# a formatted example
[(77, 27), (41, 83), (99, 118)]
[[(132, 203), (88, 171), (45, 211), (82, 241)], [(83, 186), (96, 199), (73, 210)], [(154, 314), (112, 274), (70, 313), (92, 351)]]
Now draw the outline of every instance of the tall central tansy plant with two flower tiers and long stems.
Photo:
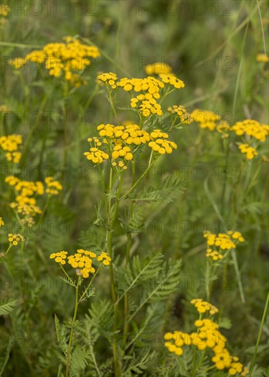
[[(117, 332), (120, 328), (123, 331), (121, 339), (123, 348), (130, 348), (133, 346), (135, 339), (128, 337), (130, 320), (133, 317), (129, 315), (129, 291), (135, 287), (132, 268), (137, 269), (139, 273), (142, 268), (141, 265), (130, 266), (130, 248), (132, 245), (132, 229), (130, 227), (130, 219), (136, 217), (137, 205), (134, 208), (134, 203), (139, 203), (139, 199), (143, 197), (150, 201), (154, 200), (154, 195), (146, 191), (142, 192), (141, 189), (136, 189), (139, 182), (145, 178), (150, 168), (154, 165), (160, 156), (165, 154), (172, 154), (177, 149), (176, 143), (171, 139), (168, 132), (163, 130), (167, 128), (163, 125), (163, 108), (162, 102), (174, 90), (184, 88), (185, 84), (174, 75), (167, 75), (160, 73), (158, 78), (148, 76), (145, 78), (121, 78), (113, 72), (102, 73), (97, 77), (101, 85), (106, 86), (108, 102), (113, 110), (114, 121), (117, 124), (103, 123), (97, 125), (96, 133), (90, 135), (88, 138), (89, 150), (84, 152), (84, 156), (91, 162), (100, 173), (100, 180), (104, 189), (104, 202), (100, 204), (98, 211), (101, 213), (104, 206), (106, 213), (106, 252), (108, 256), (114, 260), (114, 247), (113, 247), (113, 234), (115, 222), (117, 221), (118, 208), (121, 202), (126, 203), (128, 206), (128, 215), (126, 219), (122, 219), (121, 223), (126, 231), (126, 255), (124, 265), (126, 266), (126, 273), (131, 279), (130, 287), (125, 287), (124, 280), (119, 283), (119, 278), (115, 276), (115, 265), (110, 264), (110, 287), (111, 297), (113, 301), (113, 332), (114, 335), (111, 339), (113, 348), (113, 359), (115, 376), (124, 373), (122, 356), (119, 358), (119, 351), (117, 343), (120, 341), (117, 337)], [(118, 114), (120, 102), (118, 102), (118, 94), (120, 91), (126, 93), (128, 110), (134, 113), (137, 118), (136, 122), (120, 121)], [(158, 125), (158, 126), (156, 126)], [(169, 125), (169, 128), (171, 125)], [(137, 175), (137, 161), (141, 156), (147, 156), (148, 165), (145, 171), (140, 176)], [(131, 174), (131, 185), (126, 189), (128, 182), (128, 171)], [(108, 182), (106, 180), (106, 172), (108, 172)], [(124, 176), (126, 176), (126, 183), (124, 183)], [(178, 193), (178, 182), (174, 183), (174, 187), (169, 189), (166, 187), (166, 192), (174, 189), (174, 193)], [(134, 190), (136, 189), (136, 190)], [(165, 192), (165, 189), (163, 192)], [(164, 195), (162, 190), (155, 195)], [(150, 197), (151, 196), (151, 197)], [(127, 200), (127, 202), (126, 202)], [(100, 220), (95, 221), (98, 223)], [(152, 256), (154, 259), (155, 257)], [(152, 260), (153, 260), (152, 259)], [(178, 271), (179, 264), (174, 265), (171, 274), (173, 276)], [(156, 268), (154, 273), (159, 273), (159, 268)], [(118, 274), (118, 273), (117, 273)], [(132, 277), (131, 277), (132, 276)], [(127, 280), (126, 280), (127, 282)], [(121, 284), (121, 286), (119, 285)], [(122, 292), (122, 284), (125, 287)], [(170, 288), (171, 289), (171, 288)], [(174, 287), (172, 288), (172, 290)], [(124, 313), (122, 321), (119, 319), (119, 304), (124, 300)], [(146, 303), (146, 302), (145, 302)], [(145, 304), (144, 303), (144, 304)], [(141, 308), (143, 307), (143, 304)]]

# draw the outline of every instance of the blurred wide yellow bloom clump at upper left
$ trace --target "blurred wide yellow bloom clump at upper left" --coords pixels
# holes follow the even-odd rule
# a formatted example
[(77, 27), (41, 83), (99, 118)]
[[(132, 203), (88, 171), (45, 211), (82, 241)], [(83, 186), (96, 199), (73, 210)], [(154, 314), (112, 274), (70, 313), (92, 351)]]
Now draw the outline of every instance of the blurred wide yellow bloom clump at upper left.
[(100, 51), (95, 46), (84, 45), (80, 40), (67, 36), (65, 42), (55, 42), (45, 45), (41, 50), (34, 50), (28, 53), (25, 58), (10, 60), (15, 69), (19, 69), (27, 62), (45, 63), (49, 75), (54, 77), (65, 77), (71, 85), (78, 87), (86, 84), (80, 74), (86, 66), (91, 64), (91, 59), (100, 56)]

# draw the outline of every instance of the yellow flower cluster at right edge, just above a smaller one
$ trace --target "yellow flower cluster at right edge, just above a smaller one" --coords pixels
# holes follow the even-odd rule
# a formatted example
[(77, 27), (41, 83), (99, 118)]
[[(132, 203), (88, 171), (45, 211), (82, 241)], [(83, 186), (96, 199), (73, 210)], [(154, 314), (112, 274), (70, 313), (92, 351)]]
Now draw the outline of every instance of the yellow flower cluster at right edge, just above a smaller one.
[(231, 131), (235, 132), (237, 136), (250, 136), (264, 143), (269, 134), (269, 125), (261, 124), (252, 119), (245, 119), (242, 122), (236, 122), (231, 127)]

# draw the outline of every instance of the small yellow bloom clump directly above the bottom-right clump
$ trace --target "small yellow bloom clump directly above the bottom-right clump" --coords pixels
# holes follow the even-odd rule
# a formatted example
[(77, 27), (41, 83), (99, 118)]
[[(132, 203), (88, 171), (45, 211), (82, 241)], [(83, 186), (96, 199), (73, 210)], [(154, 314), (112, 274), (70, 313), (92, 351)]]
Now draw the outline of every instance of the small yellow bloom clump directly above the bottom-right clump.
[(207, 254), (208, 258), (219, 260), (224, 258), (226, 252), (235, 249), (237, 243), (244, 242), (244, 238), (240, 232), (233, 232), (229, 230), (226, 233), (212, 234), (211, 232), (204, 232), (204, 238), (207, 239)]

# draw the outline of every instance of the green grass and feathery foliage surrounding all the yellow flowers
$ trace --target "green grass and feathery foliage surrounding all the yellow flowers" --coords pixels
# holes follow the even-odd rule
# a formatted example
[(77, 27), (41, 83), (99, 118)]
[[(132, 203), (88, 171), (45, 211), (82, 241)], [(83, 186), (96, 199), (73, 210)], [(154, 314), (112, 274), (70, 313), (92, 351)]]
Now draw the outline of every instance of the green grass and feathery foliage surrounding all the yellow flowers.
[[(225, 377), (226, 372), (207, 370), (210, 358), (198, 365), (200, 352), (194, 359), (186, 348), (177, 357), (164, 347), (165, 332), (191, 328), (189, 300), (205, 299), (205, 284), (211, 284), (218, 324), (231, 334), (229, 350), (248, 367), (261, 326), (252, 377), (268, 376), (266, 316), (261, 324), (269, 255), (266, 143), (257, 158), (244, 160), (240, 136), (226, 138), (179, 120), (172, 127), (167, 112), (168, 106), (185, 104), (188, 112), (217, 112), (230, 125), (246, 118), (268, 122), (268, 63), (256, 61), (257, 53), (269, 51), (266, 1), (70, 1), (66, 14), (57, 1), (48, 7), (21, 2), (24, 10), (18, 3), (1, 1), (11, 8), (0, 16), (0, 105), (9, 107), (0, 111), (1, 136), (23, 136), (20, 164), (0, 151), (1, 252), (8, 250), (9, 232), (23, 234), (25, 243), (1, 255), (1, 297), (8, 298), (0, 303), (0, 375), (64, 377), (72, 330), (69, 376), (115, 376), (116, 353), (118, 375), (126, 377), (189, 377), (197, 366), (197, 377)], [(38, 63), (21, 70), (8, 64), (65, 35), (100, 48), (100, 58), (80, 72), (85, 86), (51, 77)], [(130, 93), (122, 90), (115, 112), (120, 124), (134, 121), (143, 130), (167, 132), (178, 149), (159, 156), (131, 189), (155, 156), (139, 145), (120, 194), (130, 192), (117, 203), (122, 170), (113, 168), (110, 179), (111, 161), (100, 165), (99, 174), (83, 155), (87, 138), (98, 136), (97, 125), (117, 124), (96, 76), (114, 71), (118, 77), (145, 77), (145, 65), (152, 62), (171, 64), (185, 88), (162, 99), (161, 117), (139, 117)], [(10, 208), (16, 195), (5, 182), (8, 175), (33, 182), (53, 176), (63, 190), (48, 202), (36, 197), (42, 215), (33, 226), (23, 225)], [(202, 232), (226, 228), (242, 232), (246, 242), (233, 260), (215, 263), (207, 276)], [(89, 288), (83, 280), (73, 319), (78, 276), (68, 264), (66, 276), (49, 255), (78, 248), (98, 256), (110, 252), (113, 271), (103, 265)], [(95, 271), (98, 263), (93, 262)]]

